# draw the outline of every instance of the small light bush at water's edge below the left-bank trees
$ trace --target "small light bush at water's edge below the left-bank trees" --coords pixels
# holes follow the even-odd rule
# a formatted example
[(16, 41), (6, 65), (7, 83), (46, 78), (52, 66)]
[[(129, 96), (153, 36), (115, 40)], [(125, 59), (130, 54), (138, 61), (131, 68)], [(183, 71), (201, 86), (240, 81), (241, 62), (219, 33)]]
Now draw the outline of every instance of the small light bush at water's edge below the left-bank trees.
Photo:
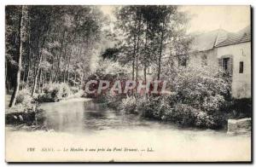
[(44, 86), (43, 93), (38, 95), (39, 102), (61, 101), (71, 95), (71, 90), (67, 83), (49, 83)]

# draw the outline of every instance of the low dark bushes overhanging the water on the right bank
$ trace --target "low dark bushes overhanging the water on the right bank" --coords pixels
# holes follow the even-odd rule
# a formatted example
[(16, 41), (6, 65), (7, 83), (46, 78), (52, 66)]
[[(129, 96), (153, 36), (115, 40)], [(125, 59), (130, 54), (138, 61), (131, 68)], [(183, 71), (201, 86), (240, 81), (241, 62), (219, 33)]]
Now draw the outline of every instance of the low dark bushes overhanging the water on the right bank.
[[(124, 101), (124, 100), (123, 100)], [(222, 111), (207, 112), (176, 101), (176, 97), (150, 97), (137, 100), (137, 110), (145, 118), (154, 118), (184, 126), (201, 128), (221, 128), (226, 123), (226, 114)]]

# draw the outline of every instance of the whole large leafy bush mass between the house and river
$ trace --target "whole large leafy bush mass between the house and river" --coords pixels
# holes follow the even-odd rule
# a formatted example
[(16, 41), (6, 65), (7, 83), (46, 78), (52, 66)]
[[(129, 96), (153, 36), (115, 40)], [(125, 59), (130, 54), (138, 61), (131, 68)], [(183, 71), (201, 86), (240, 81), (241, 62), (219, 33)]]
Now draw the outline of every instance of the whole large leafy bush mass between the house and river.
[[(143, 117), (212, 129), (226, 124), (224, 105), (230, 83), (219, 78), (218, 71), (187, 67), (167, 76), (171, 75), (168, 89), (174, 93), (151, 95), (148, 100), (137, 98), (137, 110), (143, 113)], [(129, 106), (127, 108), (131, 110)]]

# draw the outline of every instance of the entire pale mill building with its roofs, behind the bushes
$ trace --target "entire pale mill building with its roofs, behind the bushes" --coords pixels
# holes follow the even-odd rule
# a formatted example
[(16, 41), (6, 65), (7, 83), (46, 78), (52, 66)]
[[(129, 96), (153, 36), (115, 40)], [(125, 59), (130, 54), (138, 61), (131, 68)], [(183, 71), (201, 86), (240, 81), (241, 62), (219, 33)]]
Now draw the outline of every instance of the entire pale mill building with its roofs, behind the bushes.
[(195, 35), (183, 66), (219, 66), (232, 81), (234, 98), (251, 97), (251, 28), (239, 32), (216, 30)]

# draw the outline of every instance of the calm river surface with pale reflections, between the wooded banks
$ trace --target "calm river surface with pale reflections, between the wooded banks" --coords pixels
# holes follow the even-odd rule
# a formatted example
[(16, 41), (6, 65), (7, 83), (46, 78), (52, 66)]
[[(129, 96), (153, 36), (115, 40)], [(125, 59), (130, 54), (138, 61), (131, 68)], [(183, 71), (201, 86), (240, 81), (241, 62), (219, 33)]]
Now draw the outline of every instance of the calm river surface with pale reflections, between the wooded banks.
[(40, 108), (44, 110), (41, 113), (44, 117), (41, 124), (47, 129), (61, 132), (84, 133), (95, 132), (96, 130), (124, 129), (141, 131), (171, 130), (172, 135), (190, 134), (191, 131), (202, 132), (202, 134), (216, 132), (215, 130), (183, 129), (175, 124), (146, 120), (133, 114), (122, 114), (122, 112), (110, 110), (105, 105), (96, 104), (93, 101), (44, 103)]

